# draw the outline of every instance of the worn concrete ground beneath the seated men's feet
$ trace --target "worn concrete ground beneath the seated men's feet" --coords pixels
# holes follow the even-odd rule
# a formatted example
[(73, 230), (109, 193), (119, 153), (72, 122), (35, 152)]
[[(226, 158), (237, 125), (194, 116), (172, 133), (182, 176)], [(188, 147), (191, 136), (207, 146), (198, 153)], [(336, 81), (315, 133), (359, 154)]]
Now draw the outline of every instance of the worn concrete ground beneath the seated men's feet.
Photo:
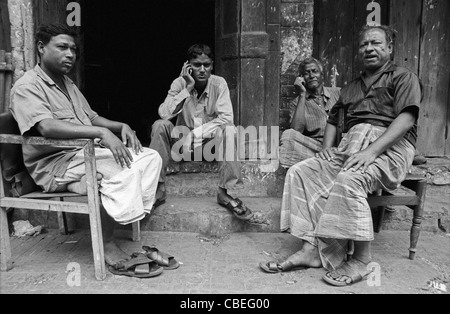
[(182, 265), (149, 279), (108, 272), (106, 280), (97, 281), (89, 231), (62, 236), (50, 230), (33, 238), (12, 238), (14, 268), (0, 273), (0, 294), (189, 294), (195, 298), (203, 294), (445, 294), (450, 288), (450, 235), (444, 233), (422, 232), (416, 259), (411, 261), (409, 233), (383, 231), (373, 243), (380, 276), (345, 288), (323, 282), (322, 269), (262, 272), (261, 261), (282, 260), (296, 251), (297, 240), (289, 234), (231, 233), (211, 238), (146, 231), (136, 243), (129, 240), (128, 231), (117, 235), (129, 253), (140, 251), (144, 244), (155, 245)]

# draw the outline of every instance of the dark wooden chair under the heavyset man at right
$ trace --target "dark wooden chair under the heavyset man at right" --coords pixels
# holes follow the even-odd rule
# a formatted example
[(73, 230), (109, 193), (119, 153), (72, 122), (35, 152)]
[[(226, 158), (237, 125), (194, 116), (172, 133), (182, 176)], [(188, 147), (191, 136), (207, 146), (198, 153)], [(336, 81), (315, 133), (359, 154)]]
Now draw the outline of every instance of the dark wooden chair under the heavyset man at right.
[[(339, 110), (339, 123), (337, 126), (336, 143), (340, 143), (343, 134), (347, 132), (346, 127), (346, 112), (344, 108)], [(409, 259), (414, 260), (417, 252), (417, 243), (420, 236), (420, 226), (422, 224), (422, 217), (425, 205), (425, 195), (427, 191), (427, 179), (425, 176), (407, 175), (402, 182), (402, 186), (412, 191), (413, 195), (394, 195), (384, 190), (377, 191), (369, 195), (367, 201), (374, 213), (378, 214), (377, 219), (374, 219), (374, 229), (376, 233), (381, 231), (387, 206), (407, 206), (413, 211), (413, 221), (410, 235)], [(374, 215), (373, 215), (374, 216)], [(375, 222), (376, 221), (376, 222)], [(349, 254), (353, 253), (353, 242), (350, 243)]]

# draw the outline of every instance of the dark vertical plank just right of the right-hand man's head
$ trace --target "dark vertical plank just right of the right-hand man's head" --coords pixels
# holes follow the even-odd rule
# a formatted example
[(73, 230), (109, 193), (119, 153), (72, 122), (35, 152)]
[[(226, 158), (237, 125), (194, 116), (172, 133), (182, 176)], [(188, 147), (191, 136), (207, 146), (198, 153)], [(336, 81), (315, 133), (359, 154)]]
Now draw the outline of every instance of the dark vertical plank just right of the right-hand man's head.
[(391, 1), (390, 14), (390, 25), (398, 32), (394, 62), (417, 74), (420, 61), (422, 2), (423, 0)]

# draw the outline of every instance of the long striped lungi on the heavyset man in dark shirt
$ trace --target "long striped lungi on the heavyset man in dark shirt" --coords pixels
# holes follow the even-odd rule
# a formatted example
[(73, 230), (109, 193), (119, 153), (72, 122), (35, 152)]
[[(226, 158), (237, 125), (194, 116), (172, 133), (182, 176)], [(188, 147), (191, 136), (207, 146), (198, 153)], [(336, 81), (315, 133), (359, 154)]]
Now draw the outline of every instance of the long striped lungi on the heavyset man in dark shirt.
[(281, 230), (318, 247), (322, 264), (329, 270), (343, 262), (348, 240), (373, 241), (368, 194), (397, 189), (412, 165), (415, 148), (403, 139), (379, 156), (366, 173), (342, 171), (349, 156), (385, 132), (383, 127), (359, 124), (342, 140), (333, 161), (311, 158), (286, 175)]

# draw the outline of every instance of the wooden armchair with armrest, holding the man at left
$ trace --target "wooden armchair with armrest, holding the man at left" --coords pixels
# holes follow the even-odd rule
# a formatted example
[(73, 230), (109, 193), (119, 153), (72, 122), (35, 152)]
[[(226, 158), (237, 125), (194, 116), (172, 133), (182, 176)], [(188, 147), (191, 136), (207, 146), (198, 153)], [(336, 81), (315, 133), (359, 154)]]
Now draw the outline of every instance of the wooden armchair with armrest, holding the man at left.
[[(60, 230), (67, 233), (67, 224), (64, 213), (87, 214), (90, 220), (92, 250), (94, 254), (95, 277), (98, 280), (106, 278), (104, 258), (100, 198), (97, 186), (97, 170), (95, 163), (94, 141), (90, 139), (60, 140), (43, 137), (24, 137), (20, 135), (13, 116), (5, 112), (9, 108), (9, 97), (12, 86), (13, 65), (11, 54), (0, 51), (0, 270), (7, 271), (12, 268), (11, 245), (8, 229), (7, 212), (9, 208), (22, 208), (28, 210), (54, 211), (58, 213)], [(3, 113), (2, 113), (3, 112)], [(11, 180), (18, 173), (23, 173), (21, 145), (55, 145), (62, 147), (78, 147), (84, 150), (86, 161), (87, 191), (86, 202), (67, 202), (67, 198), (77, 197), (74, 193), (43, 193), (42, 191), (17, 192), (17, 186), (12, 186)], [(22, 172), (21, 172), (22, 171)], [(26, 170), (25, 170), (26, 171)], [(27, 173), (25, 173), (27, 175)], [(140, 241), (139, 222), (134, 223), (133, 241)]]

